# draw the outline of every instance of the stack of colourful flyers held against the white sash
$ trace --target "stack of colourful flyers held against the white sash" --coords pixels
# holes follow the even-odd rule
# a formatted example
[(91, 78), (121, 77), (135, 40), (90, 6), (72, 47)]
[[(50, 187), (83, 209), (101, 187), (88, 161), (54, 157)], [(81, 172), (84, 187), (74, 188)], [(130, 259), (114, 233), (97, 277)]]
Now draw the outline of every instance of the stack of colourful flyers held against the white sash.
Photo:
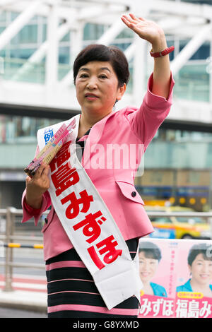
[(66, 126), (66, 124), (62, 124), (56, 134), (49, 140), (47, 145), (42, 148), (40, 153), (36, 155), (36, 157), (30, 162), (30, 164), (25, 167), (24, 172), (28, 174), (29, 177), (33, 177), (35, 175), (35, 172), (40, 167), (41, 162), (45, 162), (46, 164), (49, 164), (52, 159), (57, 155), (60, 148), (66, 143), (66, 140), (71, 134), (71, 131), (76, 126), (76, 121), (73, 119), (71, 123)]

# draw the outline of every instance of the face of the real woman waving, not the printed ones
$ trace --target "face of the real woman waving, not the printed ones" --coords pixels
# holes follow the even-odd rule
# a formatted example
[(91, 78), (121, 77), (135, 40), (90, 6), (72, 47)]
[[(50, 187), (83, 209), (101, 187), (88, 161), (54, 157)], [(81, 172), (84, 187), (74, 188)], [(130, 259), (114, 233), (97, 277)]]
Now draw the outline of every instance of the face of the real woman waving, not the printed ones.
[(116, 73), (107, 61), (90, 61), (81, 66), (76, 76), (76, 97), (82, 112), (109, 114), (125, 90), (125, 84), (118, 88)]

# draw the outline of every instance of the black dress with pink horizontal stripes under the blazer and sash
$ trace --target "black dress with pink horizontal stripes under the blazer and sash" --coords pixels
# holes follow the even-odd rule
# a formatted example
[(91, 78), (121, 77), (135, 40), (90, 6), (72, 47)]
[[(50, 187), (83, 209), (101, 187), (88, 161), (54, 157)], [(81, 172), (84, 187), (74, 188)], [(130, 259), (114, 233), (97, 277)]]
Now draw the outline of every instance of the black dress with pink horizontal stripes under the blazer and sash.
[[(88, 136), (89, 131), (83, 138)], [(84, 141), (76, 142), (83, 151)], [(82, 153), (76, 152), (80, 152), (80, 160)], [(129, 239), (126, 244), (131, 259), (134, 259), (138, 239)], [(74, 248), (48, 259), (46, 274), (49, 318), (137, 318), (139, 314), (139, 300), (135, 296), (107, 309), (92, 275)]]

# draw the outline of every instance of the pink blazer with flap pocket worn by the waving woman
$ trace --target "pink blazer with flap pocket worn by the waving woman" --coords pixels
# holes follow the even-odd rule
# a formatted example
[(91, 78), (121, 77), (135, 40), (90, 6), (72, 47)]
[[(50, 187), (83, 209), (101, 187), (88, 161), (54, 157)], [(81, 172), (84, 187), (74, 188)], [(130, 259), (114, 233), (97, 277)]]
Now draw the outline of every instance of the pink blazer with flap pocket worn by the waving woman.
[[(125, 148), (133, 145), (143, 145), (143, 152), (146, 150), (158, 127), (170, 111), (172, 88), (175, 81), (172, 78), (167, 100), (165, 97), (151, 93), (152, 83), (153, 74), (148, 80), (148, 90), (139, 109), (126, 107), (117, 112), (112, 112), (92, 127), (81, 161), (88, 176), (112, 213), (125, 240), (143, 237), (153, 232), (151, 220), (149, 220), (143, 208), (143, 200), (134, 186), (134, 176), (141, 161), (142, 153), (136, 153), (134, 149), (130, 150), (128, 156), (130, 159), (136, 159), (136, 162), (132, 162), (133, 165), (129, 165), (129, 167), (126, 167), (126, 165), (116, 167), (115, 160), (112, 160), (111, 165), (107, 164), (107, 167), (105, 167), (106, 162), (110, 164), (105, 151), (107, 151), (109, 144), (119, 144), (119, 146), (124, 144), (123, 147), (125, 146)], [(101, 151), (104, 152), (100, 153)], [(133, 153), (136, 153), (136, 156)], [(40, 210), (35, 210), (25, 203), (24, 191), (22, 206), (22, 223), (34, 217), (35, 225), (37, 225), (40, 215), (51, 206), (49, 192), (46, 191), (43, 195)], [(73, 247), (53, 207), (47, 216), (47, 220), (47, 223), (42, 227), (45, 260)]]

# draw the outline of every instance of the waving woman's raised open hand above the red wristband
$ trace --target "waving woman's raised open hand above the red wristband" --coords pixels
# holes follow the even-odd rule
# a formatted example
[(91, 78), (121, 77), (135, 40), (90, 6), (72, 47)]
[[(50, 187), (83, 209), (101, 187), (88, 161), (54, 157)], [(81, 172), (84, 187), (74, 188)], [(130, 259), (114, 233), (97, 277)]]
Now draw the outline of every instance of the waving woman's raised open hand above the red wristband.
[(122, 15), (122, 21), (128, 28), (133, 30), (144, 40), (151, 42), (152, 45), (160, 45), (161, 41), (165, 40), (165, 33), (157, 23), (152, 20), (146, 20), (142, 17), (136, 17), (130, 13)]

